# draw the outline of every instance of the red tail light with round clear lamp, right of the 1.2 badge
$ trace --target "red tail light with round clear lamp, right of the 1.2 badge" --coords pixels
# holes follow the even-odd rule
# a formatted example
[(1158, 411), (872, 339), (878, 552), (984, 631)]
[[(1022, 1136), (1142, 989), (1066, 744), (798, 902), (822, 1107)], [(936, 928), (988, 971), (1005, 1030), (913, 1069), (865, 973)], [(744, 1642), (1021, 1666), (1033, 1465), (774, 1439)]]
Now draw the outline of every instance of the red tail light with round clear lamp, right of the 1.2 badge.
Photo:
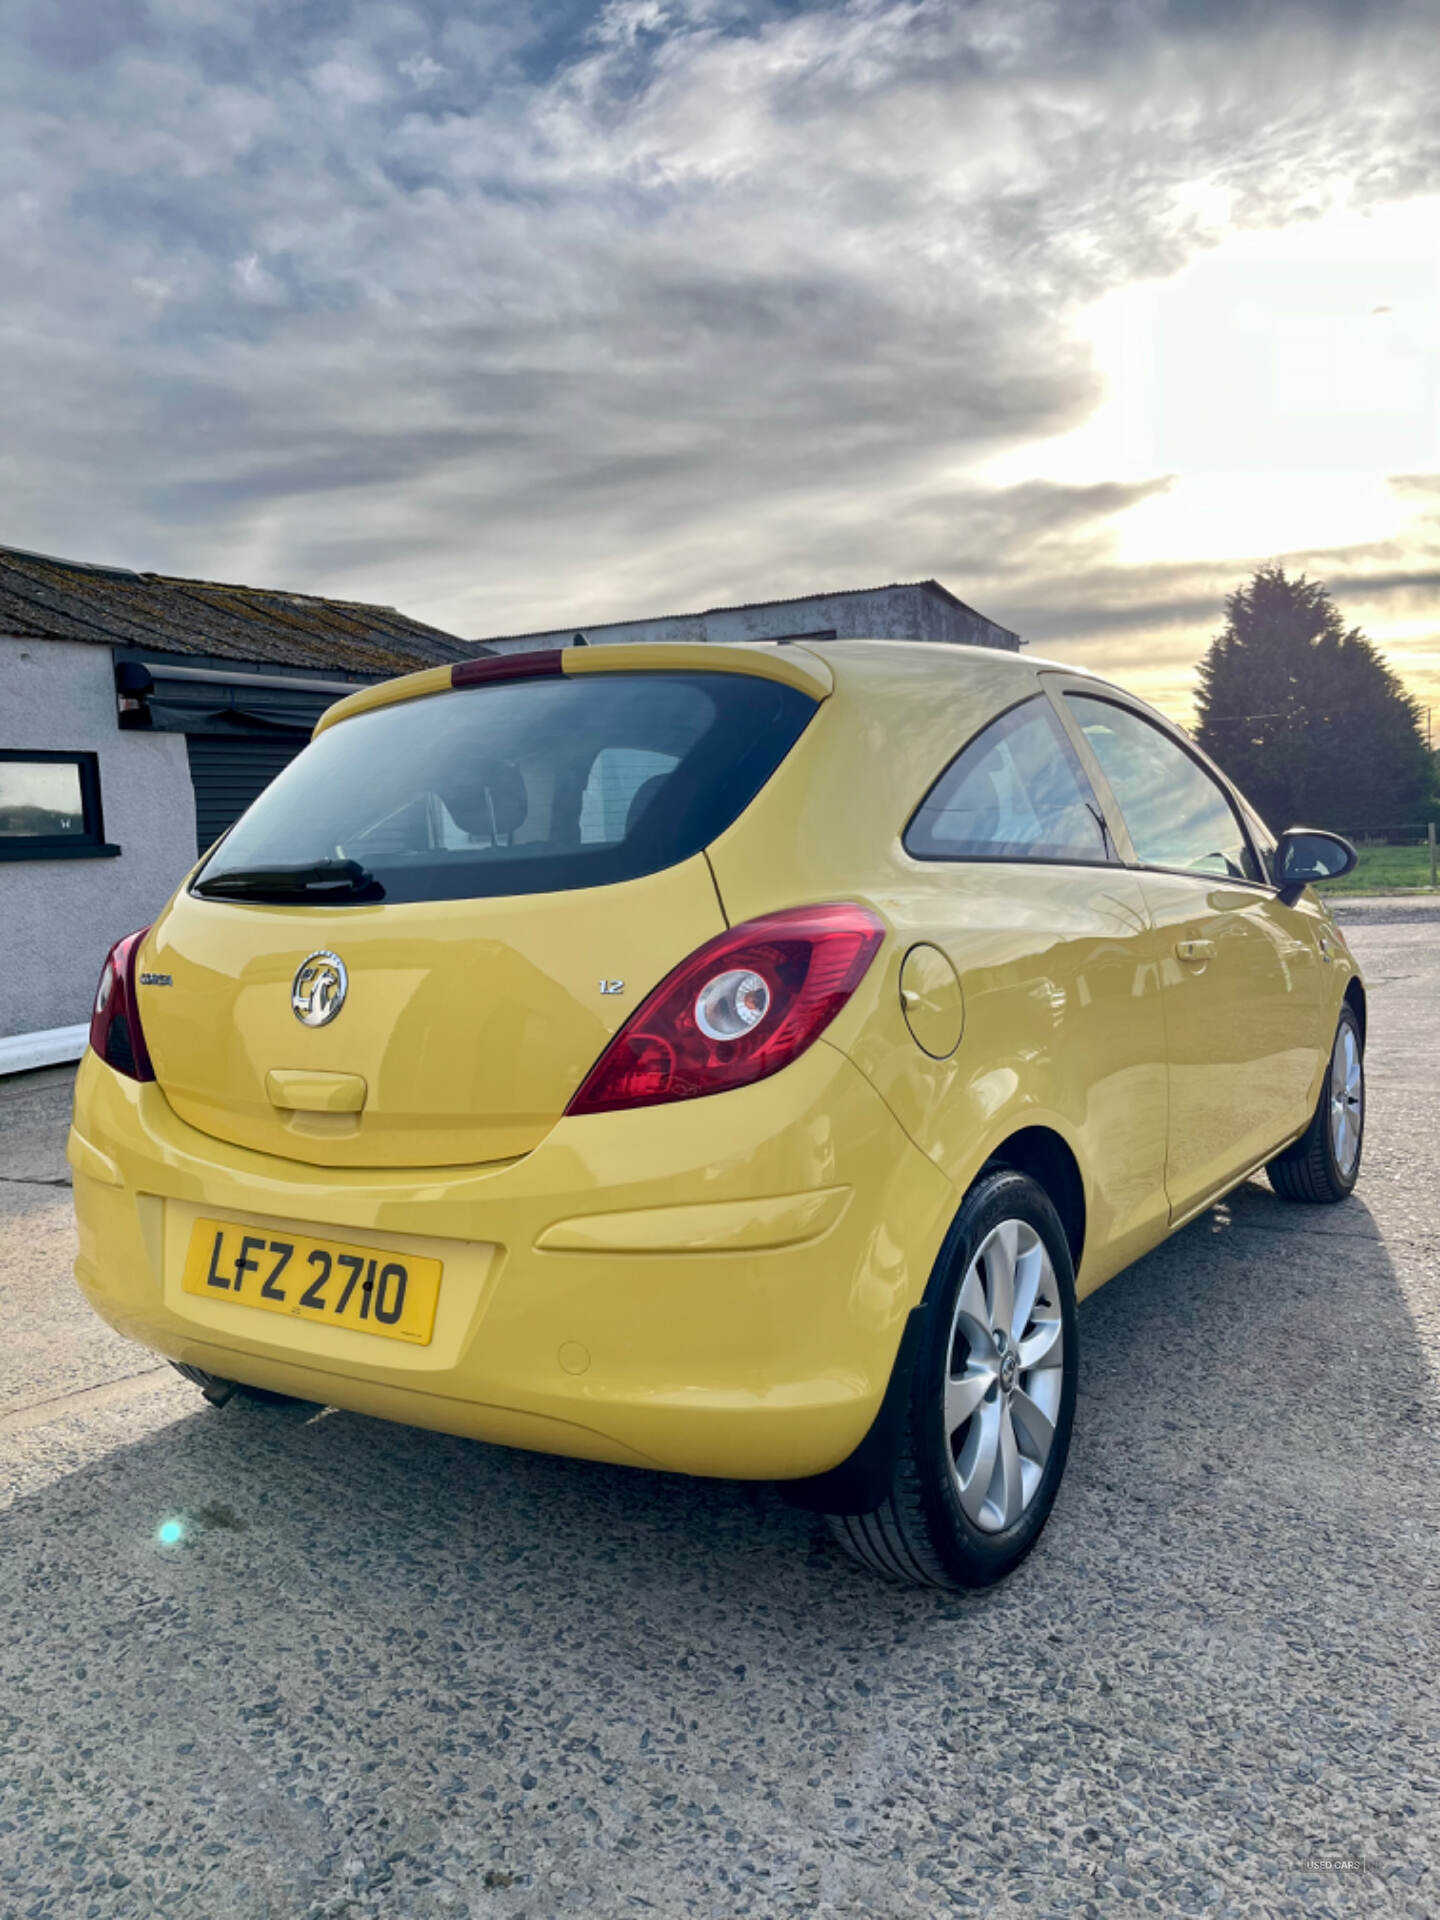
[(636, 1008), (566, 1112), (699, 1100), (780, 1073), (839, 1014), (883, 939), (864, 906), (799, 906), (720, 933)]

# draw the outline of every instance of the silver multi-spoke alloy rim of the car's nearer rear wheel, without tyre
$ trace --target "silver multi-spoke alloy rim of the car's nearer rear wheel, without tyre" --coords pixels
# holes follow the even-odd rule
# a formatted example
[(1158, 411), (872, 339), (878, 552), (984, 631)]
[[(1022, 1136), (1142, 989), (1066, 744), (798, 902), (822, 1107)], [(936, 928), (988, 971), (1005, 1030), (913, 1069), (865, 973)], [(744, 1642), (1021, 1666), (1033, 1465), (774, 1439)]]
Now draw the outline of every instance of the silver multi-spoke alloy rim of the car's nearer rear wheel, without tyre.
[(966, 1269), (950, 1325), (945, 1434), (972, 1524), (998, 1534), (1039, 1492), (1064, 1388), (1060, 1284), (1039, 1233), (1004, 1219)]

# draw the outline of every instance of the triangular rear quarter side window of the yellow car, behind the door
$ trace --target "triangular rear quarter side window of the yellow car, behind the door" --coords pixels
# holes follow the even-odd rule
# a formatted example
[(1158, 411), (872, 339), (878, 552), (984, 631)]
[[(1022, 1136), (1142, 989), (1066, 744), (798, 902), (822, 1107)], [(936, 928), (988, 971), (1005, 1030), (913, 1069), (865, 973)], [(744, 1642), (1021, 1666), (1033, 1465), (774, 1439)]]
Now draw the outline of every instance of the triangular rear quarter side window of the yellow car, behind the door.
[(1112, 860), (1085, 768), (1044, 695), (993, 720), (904, 829), (916, 860)]

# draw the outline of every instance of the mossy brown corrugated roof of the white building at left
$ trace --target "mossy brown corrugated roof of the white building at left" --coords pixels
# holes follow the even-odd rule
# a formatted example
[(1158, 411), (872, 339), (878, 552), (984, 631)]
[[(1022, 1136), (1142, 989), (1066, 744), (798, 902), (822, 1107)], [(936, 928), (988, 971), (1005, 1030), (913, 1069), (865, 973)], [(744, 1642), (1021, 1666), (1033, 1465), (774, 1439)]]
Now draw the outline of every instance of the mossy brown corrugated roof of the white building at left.
[(19, 547), (0, 547), (0, 636), (353, 674), (403, 674), (474, 655), (474, 645), (394, 607), (132, 574)]

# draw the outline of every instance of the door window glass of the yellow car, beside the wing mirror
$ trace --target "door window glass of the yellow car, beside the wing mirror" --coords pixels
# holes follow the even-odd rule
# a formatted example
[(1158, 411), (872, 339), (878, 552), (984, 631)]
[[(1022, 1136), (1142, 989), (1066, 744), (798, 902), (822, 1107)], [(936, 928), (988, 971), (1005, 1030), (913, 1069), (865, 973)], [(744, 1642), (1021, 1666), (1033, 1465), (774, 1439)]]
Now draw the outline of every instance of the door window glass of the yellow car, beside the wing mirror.
[(1229, 797), (1169, 733), (1112, 701), (1066, 699), (1146, 866), (1261, 877)]

